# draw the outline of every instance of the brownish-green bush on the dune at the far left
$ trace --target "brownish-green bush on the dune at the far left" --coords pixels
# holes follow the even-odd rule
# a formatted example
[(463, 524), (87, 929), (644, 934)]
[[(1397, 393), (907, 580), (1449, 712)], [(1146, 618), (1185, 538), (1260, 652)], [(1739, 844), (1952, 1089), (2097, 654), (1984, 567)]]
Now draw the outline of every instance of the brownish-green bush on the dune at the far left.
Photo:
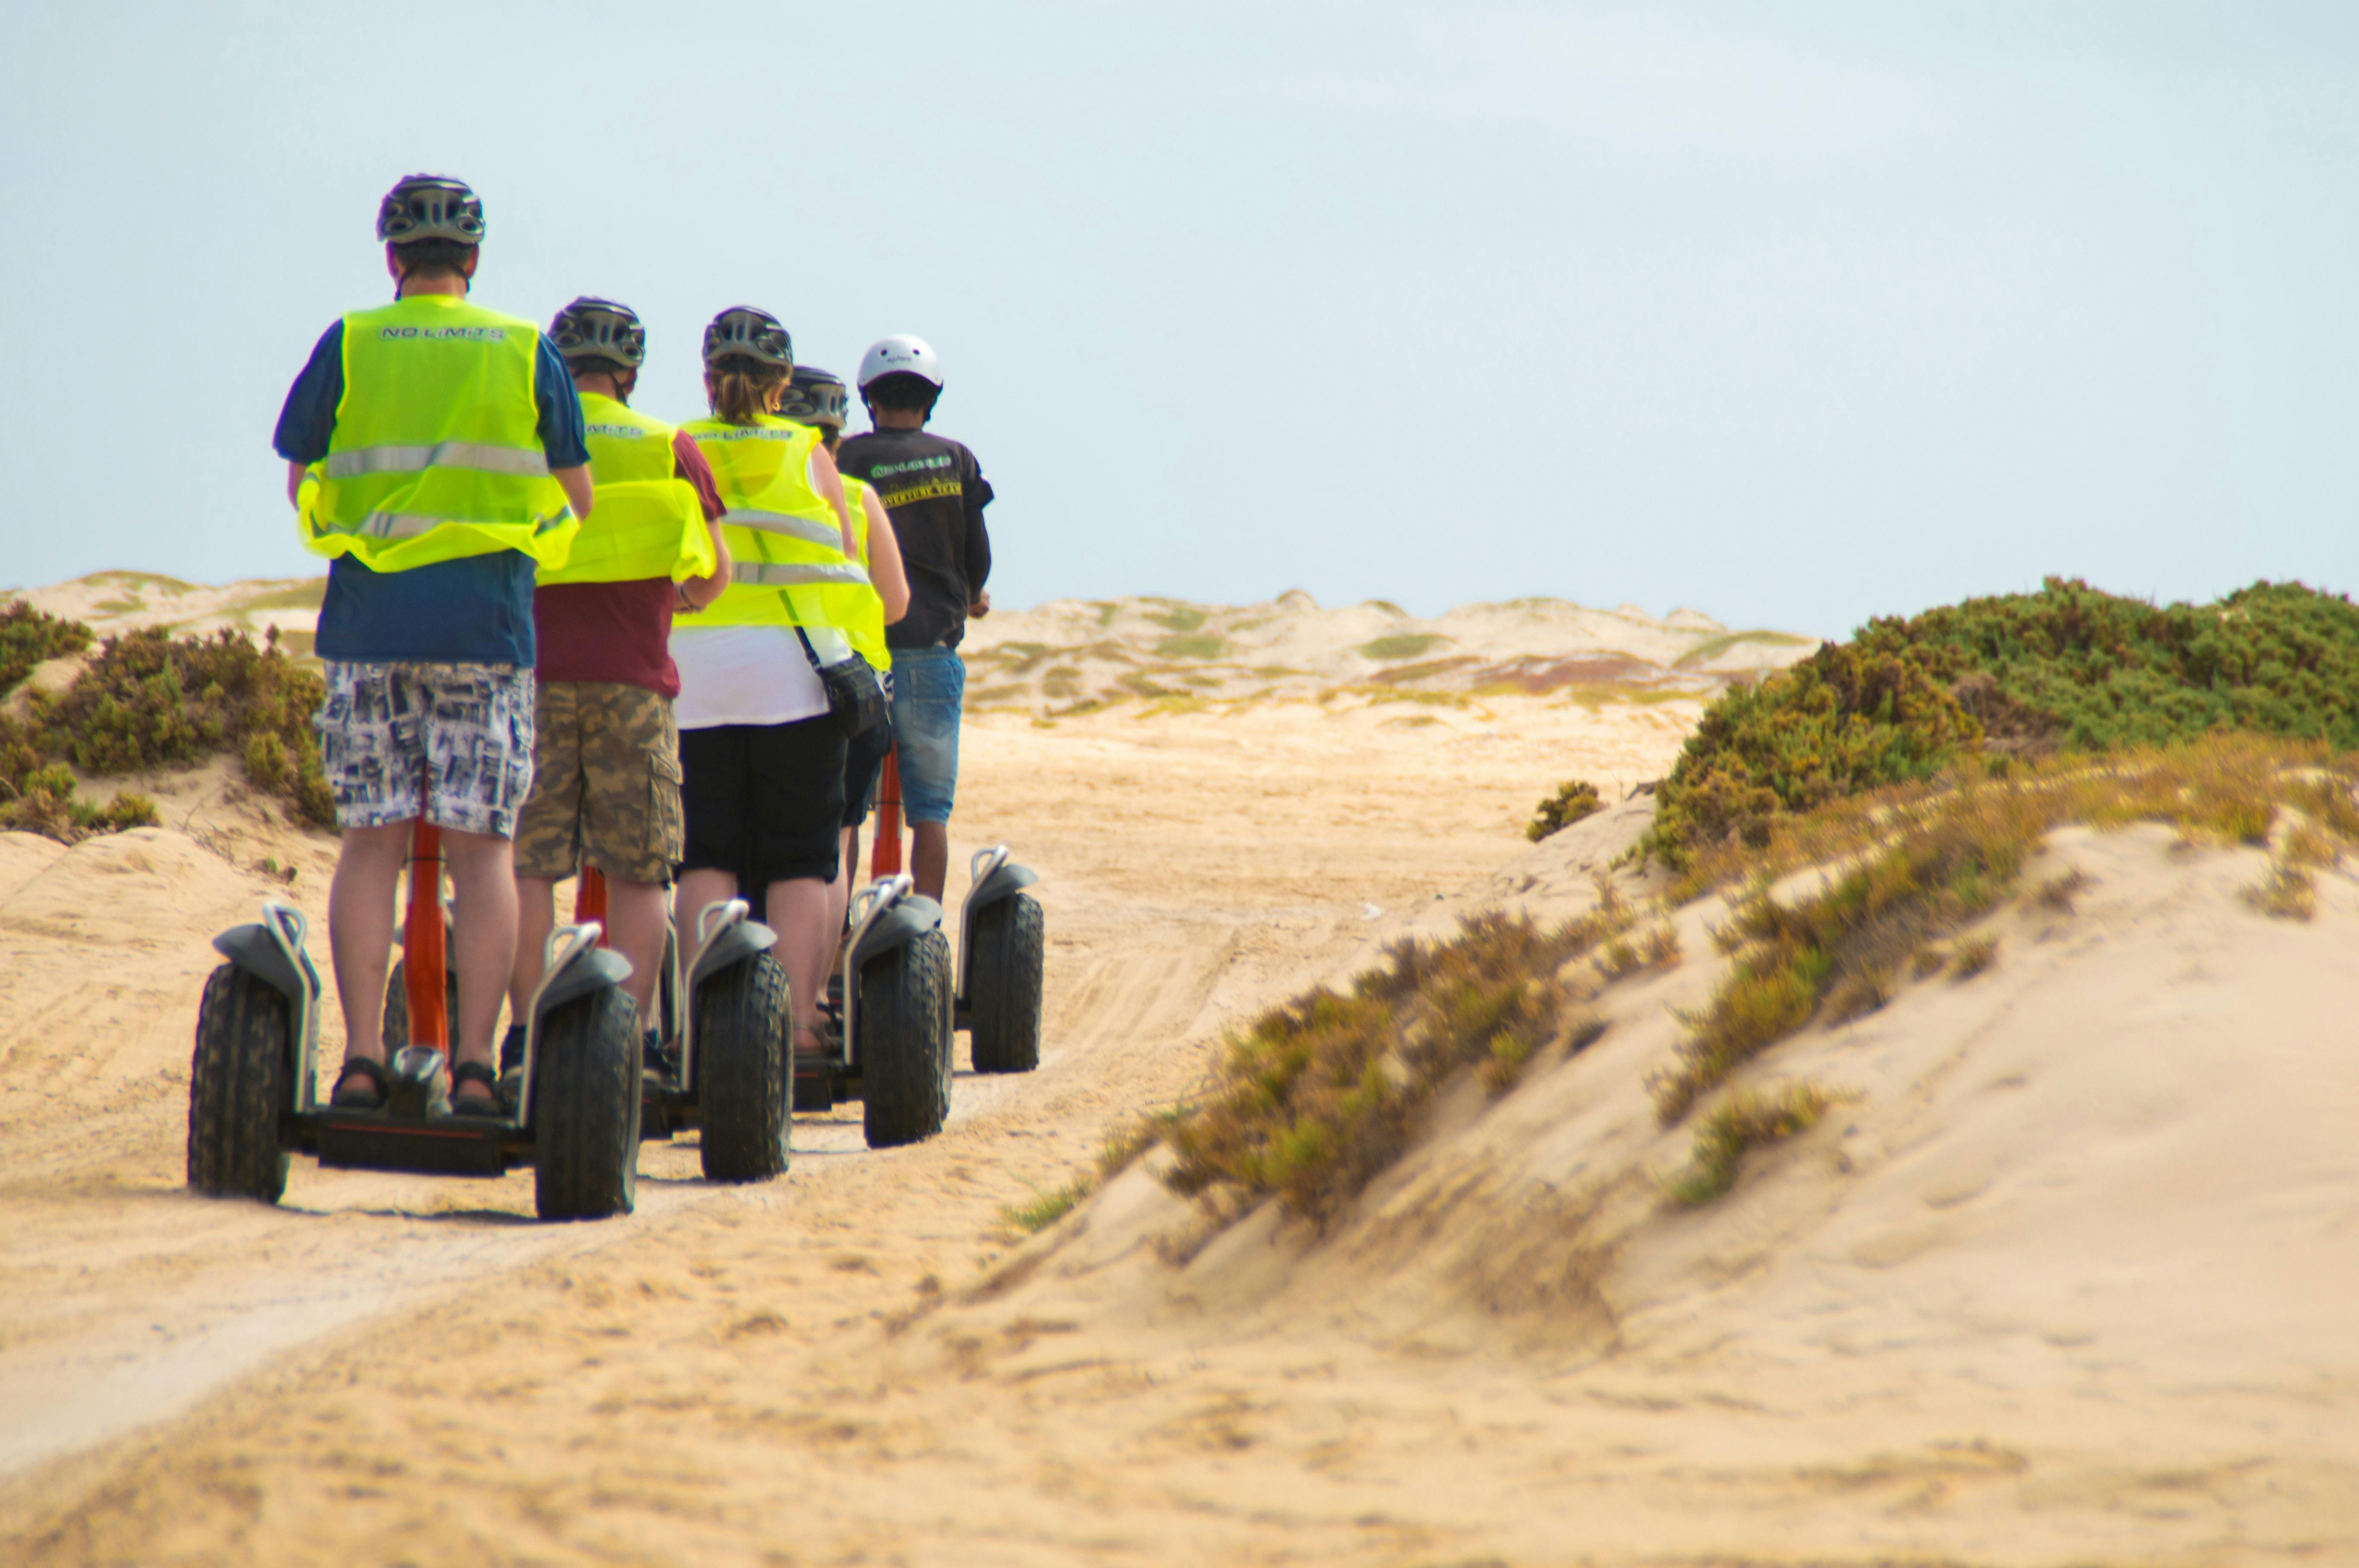
[[(90, 627), (24, 601), (0, 613), (0, 637), (9, 686), (40, 658), (57, 658), (33, 655), (38, 648), (90, 646)], [(278, 648), (276, 630), (259, 646), (245, 632), (175, 639), (149, 627), (109, 637), (64, 693), (33, 691), (21, 719), (0, 714), (0, 828), (73, 842), (149, 825), (156, 804), (144, 795), (99, 806), (73, 792), (64, 764), (104, 776), (189, 766), (212, 752), (236, 755), (245, 778), (285, 797), (297, 821), (330, 825), (335, 802), (311, 733), (321, 693), (321, 679)]]

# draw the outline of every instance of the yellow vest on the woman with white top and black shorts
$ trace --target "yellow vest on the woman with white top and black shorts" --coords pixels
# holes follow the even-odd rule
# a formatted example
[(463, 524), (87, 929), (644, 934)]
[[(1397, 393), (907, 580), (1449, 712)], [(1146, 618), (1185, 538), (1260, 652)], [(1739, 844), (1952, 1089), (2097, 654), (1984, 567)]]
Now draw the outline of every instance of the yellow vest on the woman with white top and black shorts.
[(819, 431), (809, 424), (760, 415), (755, 424), (689, 420), (679, 429), (712, 465), (722, 493), (722, 540), (729, 545), (729, 587), (696, 613), (672, 618), (677, 627), (800, 625), (823, 665), (849, 655), (830, 606), (807, 589), (868, 582), (868, 573), (845, 556), (845, 535), (809, 479)]

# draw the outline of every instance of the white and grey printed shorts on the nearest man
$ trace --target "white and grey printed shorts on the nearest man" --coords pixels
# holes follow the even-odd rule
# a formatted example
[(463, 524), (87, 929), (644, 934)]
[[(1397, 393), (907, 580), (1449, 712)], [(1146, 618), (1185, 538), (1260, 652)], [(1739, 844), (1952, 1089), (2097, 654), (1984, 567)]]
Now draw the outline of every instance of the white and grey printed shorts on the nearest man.
[(342, 828), (415, 816), (517, 835), (533, 788), (533, 672), (514, 665), (328, 660), (318, 762)]

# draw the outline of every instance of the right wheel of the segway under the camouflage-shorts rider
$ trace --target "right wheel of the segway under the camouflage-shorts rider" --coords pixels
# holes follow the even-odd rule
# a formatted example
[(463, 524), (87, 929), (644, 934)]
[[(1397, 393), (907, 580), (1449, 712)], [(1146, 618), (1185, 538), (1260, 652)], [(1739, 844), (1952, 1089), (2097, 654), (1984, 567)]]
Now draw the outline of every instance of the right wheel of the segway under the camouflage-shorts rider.
[(786, 1172), (795, 1122), (786, 969), (755, 953), (708, 979), (696, 1007), (705, 1181), (769, 1181)]

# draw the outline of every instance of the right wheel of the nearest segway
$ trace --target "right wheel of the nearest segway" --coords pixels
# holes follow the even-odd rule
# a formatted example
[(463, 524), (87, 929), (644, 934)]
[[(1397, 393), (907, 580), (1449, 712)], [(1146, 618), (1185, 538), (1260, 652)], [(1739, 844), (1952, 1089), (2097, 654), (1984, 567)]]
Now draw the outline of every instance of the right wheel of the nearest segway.
[(639, 1009), (618, 986), (550, 1009), (533, 1049), (533, 1207), (630, 1214), (639, 1198)]

